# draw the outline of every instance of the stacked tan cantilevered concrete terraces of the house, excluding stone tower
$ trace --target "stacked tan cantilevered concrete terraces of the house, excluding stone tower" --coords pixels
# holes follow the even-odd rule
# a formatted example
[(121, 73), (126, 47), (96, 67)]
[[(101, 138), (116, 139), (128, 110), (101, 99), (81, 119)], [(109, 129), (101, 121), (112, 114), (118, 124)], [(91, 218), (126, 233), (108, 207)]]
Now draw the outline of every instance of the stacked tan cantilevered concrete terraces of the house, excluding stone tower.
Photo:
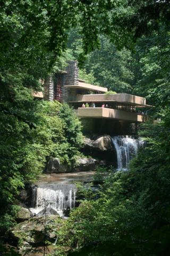
[[(134, 123), (144, 122), (147, 119), (147, 115), (136, 111), (136, 108), (149, 106), (146, 105), (145, 98), (126, 93), (101, 94), (101, 92), (107, 92), (107, 89), (82, 82), (79, 82), (79, 85), (64, 87), (70, 89), (69, 103), (81, 118), (110, 118)], [(74, 92), (71, 91), (72, 88), (74, 88)], [(92, 93), (100, 92), (100, 94), (77, 94), (75, 89), (79, 89), (79, 93), (81, 93), (80, 89), (85, 89)], [(86, 102), (90, 107), (82, 108), (82, 103)], [(95, 103), (95, 108), (92, 107), (93, 103)], [(101, 107), (103, 103), (107, 104), (107, 108)]]

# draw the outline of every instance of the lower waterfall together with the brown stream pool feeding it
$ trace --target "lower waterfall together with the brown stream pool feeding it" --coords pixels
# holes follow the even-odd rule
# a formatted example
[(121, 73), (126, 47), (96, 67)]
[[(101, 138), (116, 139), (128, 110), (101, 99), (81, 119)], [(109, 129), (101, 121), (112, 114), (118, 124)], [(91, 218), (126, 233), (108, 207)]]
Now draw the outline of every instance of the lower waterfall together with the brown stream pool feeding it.
[(30, 211), (39, 216), (43, 210), (50, 209), (51, 214), (58, 213), (64, 217), (65, 212), (75, 207), (76, 182), (90, 182), (94, 171), (73, 173), (52, 173), (40, 176), (35, 188), (32, 189)]

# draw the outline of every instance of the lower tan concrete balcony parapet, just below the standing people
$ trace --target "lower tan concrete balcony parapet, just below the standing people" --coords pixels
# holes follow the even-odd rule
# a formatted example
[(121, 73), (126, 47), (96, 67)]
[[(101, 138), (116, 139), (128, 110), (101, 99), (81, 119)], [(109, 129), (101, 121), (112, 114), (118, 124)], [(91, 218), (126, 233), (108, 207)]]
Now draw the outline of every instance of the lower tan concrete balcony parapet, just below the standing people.
[(81, 118), (110, 118), (140, 123), (147, 118), (146, 115), (111, 108), (78, 108), (76, 113)]

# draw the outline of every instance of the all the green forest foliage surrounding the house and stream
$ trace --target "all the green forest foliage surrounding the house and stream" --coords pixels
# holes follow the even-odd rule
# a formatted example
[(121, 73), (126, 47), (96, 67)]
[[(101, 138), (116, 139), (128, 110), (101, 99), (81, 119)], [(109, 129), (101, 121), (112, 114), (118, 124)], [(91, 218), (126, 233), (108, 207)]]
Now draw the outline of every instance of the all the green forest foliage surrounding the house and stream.
[[(82, 135), (71, 109), (33, 100), (31, 93), (65, 59), (82, 64), (87, 55), (81, 78), (147, 97), (162, 122), (141, 128), (148, 145), (129, 172), (111, 173), (98, 199), (86, 191), (57, 246), (77, 249), (75, 255), (168, 256), (169, 1), (9, 0), (0, 6), (1, 236), (13, 223), (13, 198), (24, 182), (43, 171), (49, 156), (73, 163), (78, 154)], [(63, 54), (75, 27), (78, 43)]]

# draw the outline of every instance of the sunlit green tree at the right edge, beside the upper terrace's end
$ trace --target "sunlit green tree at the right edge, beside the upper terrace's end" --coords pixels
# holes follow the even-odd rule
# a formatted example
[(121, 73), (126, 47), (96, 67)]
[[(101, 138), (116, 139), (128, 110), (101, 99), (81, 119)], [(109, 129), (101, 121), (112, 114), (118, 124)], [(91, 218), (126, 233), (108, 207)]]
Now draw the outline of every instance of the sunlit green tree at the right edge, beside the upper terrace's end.
[(137, 44), (140, 76), (134, 93), (142, 92), (158, 108), (169, 102), (169, 42), (169, 30), (161, 25)]

